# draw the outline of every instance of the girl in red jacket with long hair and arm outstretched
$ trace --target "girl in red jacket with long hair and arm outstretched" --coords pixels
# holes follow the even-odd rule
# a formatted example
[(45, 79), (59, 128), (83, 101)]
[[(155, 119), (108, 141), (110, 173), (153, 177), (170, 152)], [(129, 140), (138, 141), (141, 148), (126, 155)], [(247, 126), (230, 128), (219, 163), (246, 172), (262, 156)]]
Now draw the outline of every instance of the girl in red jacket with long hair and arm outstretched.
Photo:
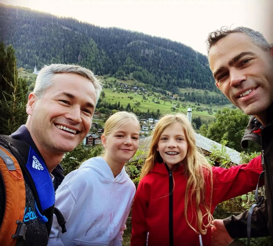
[(163, 116), (136, 191), (131, 246), (210, 246), (216, 205), (254, 190), (261, 172), (261, 156), (248, 165), (211, 167), (187, 117)]

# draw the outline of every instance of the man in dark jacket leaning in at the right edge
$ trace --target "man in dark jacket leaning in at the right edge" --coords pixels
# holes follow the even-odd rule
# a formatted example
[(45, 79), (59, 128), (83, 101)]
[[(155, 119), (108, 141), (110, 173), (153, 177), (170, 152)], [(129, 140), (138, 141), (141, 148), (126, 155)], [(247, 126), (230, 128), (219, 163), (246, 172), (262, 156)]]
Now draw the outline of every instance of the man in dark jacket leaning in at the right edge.
[(250, 216), (251, 227), (249, 211), (215, 220), (213, 245), (228, 245), (232, 238), (248, 234), (273, 236), (273, 47), (260, 32), (238, 27), (211, 32), (207, 50), (216, 86), (231, 103), (251, 115), (241, 144), (246, 148), (252, 140), (261, 145), (266, 194), (265, 202)]

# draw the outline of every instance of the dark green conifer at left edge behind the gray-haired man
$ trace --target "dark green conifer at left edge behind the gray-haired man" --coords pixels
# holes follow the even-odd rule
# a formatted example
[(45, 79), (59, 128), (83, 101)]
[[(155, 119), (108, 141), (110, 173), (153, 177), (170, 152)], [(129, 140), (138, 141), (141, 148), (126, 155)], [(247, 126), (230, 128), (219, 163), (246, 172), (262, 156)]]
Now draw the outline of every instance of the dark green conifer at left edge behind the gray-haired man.
[[(2, 51), (3, 45), (0, 44)], [(15, 50), (9, 45), (0, 59), (1, 91), (0, 91), (0, 133), (9, 135), (24, 124), (27, 103), (27, 81), (18, 78)]]

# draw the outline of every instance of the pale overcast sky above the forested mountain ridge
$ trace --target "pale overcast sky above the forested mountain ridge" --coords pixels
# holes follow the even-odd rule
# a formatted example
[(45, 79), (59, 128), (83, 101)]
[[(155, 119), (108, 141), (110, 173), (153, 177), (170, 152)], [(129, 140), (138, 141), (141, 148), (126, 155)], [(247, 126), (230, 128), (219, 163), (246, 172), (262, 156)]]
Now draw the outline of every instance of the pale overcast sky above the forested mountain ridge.
[(168, 38), (206, 54), (207, 34), (221, 26), (247, 26), (273, 43), (272, 0), (0, 0), (102, 27)]

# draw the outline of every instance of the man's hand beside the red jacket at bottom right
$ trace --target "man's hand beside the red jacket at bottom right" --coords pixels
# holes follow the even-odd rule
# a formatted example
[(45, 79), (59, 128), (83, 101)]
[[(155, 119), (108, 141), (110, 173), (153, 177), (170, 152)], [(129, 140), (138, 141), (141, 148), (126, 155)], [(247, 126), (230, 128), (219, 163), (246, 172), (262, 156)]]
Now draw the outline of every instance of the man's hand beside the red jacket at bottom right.
[(223, 220), (214, 220), (212, 224), (214, 225), (211, 227), (212, 246), (226, 246), (233, 241), (226, 230)]

